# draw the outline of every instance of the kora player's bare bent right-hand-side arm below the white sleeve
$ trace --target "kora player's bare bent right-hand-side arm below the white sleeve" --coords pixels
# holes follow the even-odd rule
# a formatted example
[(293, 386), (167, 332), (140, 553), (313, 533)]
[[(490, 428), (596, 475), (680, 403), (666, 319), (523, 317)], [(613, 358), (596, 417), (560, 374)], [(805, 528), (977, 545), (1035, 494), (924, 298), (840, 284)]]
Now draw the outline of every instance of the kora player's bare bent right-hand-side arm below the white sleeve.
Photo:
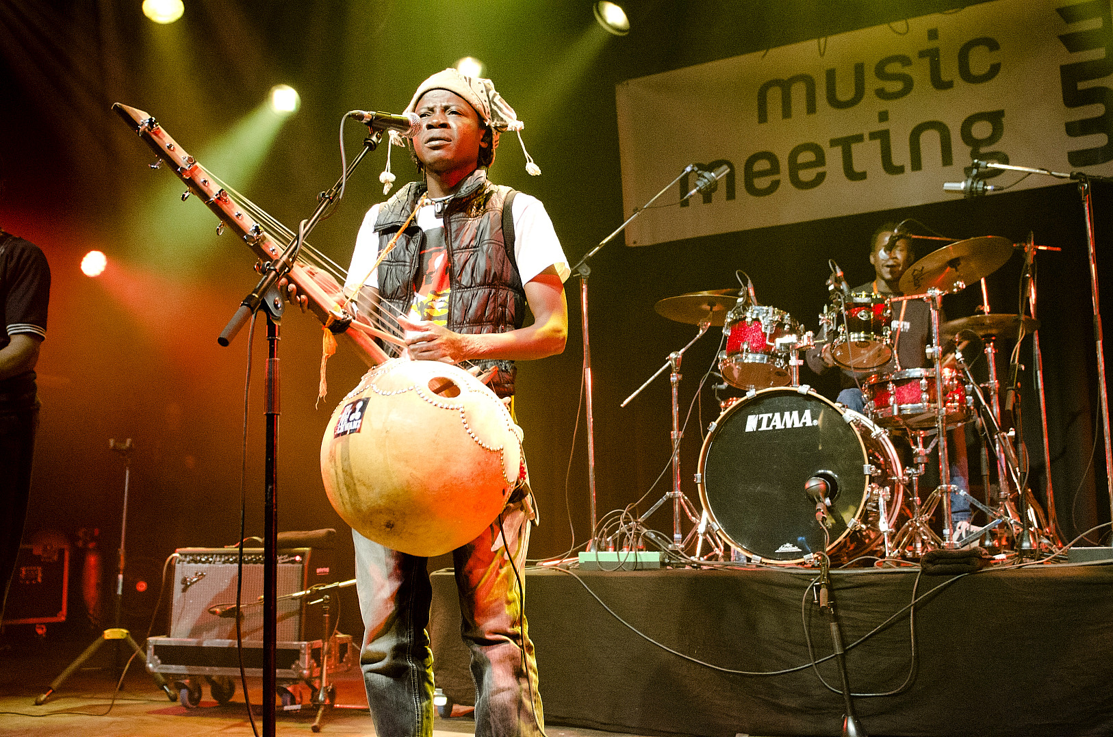
[(525, 299), (533, 312), (533, 324), (509, 333), (465, 335), (430, 322), (411, 323), (406, 328), (410, 355), (421, 361), (460, 363), (469, 358), (509, 358), (528, 361), (556, 355), (568, 338), (568, 302), (564, 285), (550, 266), (525, 284)]

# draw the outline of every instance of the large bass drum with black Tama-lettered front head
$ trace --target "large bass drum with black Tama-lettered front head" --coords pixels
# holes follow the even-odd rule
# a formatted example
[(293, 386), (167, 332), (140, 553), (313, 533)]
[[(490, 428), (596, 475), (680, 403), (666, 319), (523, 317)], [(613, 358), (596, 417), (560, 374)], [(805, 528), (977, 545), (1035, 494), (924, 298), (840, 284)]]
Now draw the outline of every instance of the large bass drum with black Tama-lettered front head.
[[(835, 487), (826, 546), (805, 492), (814, 476)], [(719, 534), (769, 563), (810, 562), (825, 549), (843, 560), (869, 551), (892, 535), (904, 495), (900, 459), (885, 431), (806, 386), (766, 389), (719, 415), (697, 483)]]

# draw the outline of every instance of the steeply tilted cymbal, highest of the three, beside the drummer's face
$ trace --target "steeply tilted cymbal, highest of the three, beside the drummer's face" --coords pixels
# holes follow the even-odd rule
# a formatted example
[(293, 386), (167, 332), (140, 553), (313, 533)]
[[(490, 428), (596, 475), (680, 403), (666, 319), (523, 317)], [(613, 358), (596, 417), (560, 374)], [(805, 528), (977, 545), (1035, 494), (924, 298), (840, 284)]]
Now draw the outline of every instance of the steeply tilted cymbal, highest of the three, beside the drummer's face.
[(1013, 255), (1008, 238), (988, 235), (957, 240), (924, 256), (900, 277), (905, 295), (926, 294), (936, 288), (955, 292), (993, 274)]

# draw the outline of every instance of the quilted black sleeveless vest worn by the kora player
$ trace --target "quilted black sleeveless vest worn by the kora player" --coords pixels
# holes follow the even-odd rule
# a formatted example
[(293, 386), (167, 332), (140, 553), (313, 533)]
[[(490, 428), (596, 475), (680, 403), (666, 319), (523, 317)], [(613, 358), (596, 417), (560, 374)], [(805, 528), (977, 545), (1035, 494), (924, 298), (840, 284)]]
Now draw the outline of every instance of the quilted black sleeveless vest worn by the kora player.
[[(383, 203), (375, 230), (378, 248), (390, 243), (425, 191), (425, 184), (411, 181)], [(449, 322), (456, 333), (506, 333), (525, 320), (525, 289), (514, 263), (514, 254), (503, 240), (503, 203), (510, 187), (486, 180), (476, 169), (460, 190), (444, 200), (441, 214), (449, 258)], [(416, 218), (415, 218), (416, 219)], [(392, 314), (410, 311), (421, 268), (425, 234), (415, 222), (398, 237), (394, 249), (378, 266), (378, 296)], [(499, 396), (514, 393), (516, 370), (513, 361), (475, 361), (498, 372), (487, 384)]]

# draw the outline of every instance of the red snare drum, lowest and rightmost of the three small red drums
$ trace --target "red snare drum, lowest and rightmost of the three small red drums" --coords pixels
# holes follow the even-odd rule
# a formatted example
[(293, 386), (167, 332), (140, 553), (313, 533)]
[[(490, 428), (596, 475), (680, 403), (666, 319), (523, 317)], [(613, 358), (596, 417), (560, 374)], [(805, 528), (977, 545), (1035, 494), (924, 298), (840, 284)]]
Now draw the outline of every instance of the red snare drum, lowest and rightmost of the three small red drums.
[[(906, 368), (870, 376), (861, 384), (866, 414), (883, 428), (933, 428), (938, 402), (935, 399), (935, 368)], [(971, 417), (966, 390), (954, 368), (943, 368), (947, 426), (956, 428)]]

